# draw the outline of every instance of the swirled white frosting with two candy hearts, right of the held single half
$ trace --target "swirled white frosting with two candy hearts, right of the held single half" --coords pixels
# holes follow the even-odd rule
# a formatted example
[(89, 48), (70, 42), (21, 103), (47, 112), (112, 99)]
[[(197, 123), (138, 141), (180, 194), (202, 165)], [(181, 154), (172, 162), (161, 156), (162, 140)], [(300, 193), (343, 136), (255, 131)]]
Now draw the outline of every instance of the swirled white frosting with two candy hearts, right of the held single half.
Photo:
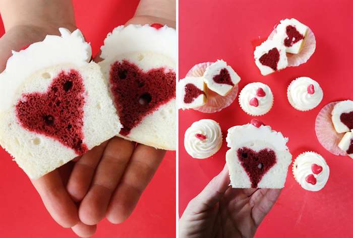
[[(322, 171), (319, 174), (315, 174), (312, 170), (313, 164), (317, 164), (322, 167)], [(321, 190), (330, 175), (330, 168), (328, 167), (325, 159), (315, 152), (304, 152), (300, 154), (293, 163), (293, 175), (297, 182), (302, 186), (303, 189), (309, 191)], [(306, 181), (308, 175), (314, 175), (316, 184), (310, 184)]]

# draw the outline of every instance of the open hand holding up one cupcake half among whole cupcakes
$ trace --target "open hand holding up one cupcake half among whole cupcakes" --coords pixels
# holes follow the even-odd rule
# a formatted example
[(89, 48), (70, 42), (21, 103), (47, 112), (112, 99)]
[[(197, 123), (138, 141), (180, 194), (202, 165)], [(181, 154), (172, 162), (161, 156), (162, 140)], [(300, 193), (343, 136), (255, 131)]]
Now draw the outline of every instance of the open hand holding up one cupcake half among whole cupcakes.
[(228, 169), (192, 199), (179, 222), (180, 238), (253, 237), (280, 189), (232, 189)]

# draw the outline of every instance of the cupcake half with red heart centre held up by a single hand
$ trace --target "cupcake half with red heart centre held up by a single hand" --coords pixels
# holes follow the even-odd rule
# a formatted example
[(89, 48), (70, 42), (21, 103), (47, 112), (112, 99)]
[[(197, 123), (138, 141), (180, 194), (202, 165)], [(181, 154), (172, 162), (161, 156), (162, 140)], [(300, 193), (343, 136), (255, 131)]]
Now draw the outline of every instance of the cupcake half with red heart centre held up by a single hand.
[(287, 138), (254, 122), (228, 129), (226, 153), (232, 188), (283, 188), (291, 154)]

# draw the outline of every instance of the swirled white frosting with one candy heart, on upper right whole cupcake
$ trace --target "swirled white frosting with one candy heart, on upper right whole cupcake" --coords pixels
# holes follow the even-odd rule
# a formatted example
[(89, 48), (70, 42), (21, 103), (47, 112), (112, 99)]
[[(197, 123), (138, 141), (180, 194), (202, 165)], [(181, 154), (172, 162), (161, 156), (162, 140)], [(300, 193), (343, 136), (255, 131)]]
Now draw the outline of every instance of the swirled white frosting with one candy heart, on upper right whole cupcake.
[[(308, 87), (314, 86), (314, 93), (308, 93)], [(324, 94), (320, 85), (311, 78), (300, 77), (293, 80), (287, 90), (288, 101), (297, 110), (311, 110), (320, 104)]]

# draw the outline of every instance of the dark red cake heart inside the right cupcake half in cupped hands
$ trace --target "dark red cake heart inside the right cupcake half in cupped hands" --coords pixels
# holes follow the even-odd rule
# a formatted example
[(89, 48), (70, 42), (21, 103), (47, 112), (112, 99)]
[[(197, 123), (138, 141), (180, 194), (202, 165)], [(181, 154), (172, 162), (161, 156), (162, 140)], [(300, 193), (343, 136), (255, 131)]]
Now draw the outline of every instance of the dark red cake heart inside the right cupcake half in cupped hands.
[(175, 78), (171, 70), (144, 72), (126, 60), (111, 66), (110, 89), (123, 125), (121, 135), (128, 136), (146, 115), (175, 98)]

